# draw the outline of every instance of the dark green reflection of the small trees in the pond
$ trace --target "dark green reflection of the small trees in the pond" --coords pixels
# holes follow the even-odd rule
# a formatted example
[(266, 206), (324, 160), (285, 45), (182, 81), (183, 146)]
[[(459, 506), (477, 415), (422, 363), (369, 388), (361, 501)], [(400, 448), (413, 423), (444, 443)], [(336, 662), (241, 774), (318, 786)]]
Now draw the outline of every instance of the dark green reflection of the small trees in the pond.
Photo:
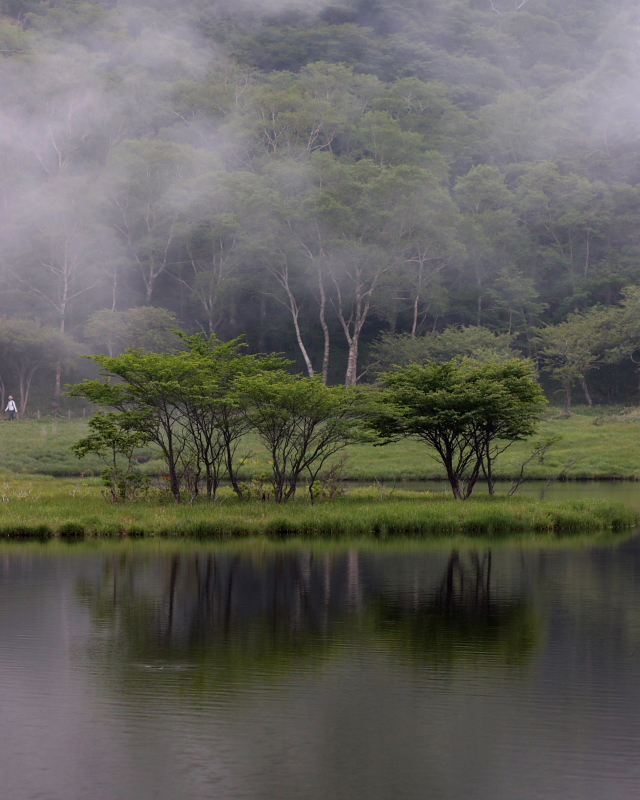
[[(420, 564), (411, 585), (406, 566)], [(115, 677), (188, 667), (201, 688), (285, 677), (359, 643), (416, 667), (526, 664), (540, 623), (519, 585), (492, 591), (491, 551), (387, 559), (358, 550), (106, 557), (83, 579), (91, 658)]]

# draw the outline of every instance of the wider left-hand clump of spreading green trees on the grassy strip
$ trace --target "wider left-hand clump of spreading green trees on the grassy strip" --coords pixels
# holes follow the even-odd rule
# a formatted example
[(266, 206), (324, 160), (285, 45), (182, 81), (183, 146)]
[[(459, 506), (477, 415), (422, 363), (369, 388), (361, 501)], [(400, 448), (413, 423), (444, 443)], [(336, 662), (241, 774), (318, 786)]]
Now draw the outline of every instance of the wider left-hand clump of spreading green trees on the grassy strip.
[[(113, 464), (107, 477), (113, 479), (116, 472), (121, 477), (120, 444), (130, 464), (132, 443), (153, 442), (177, 502), (185, 485), (195, 499), (202, 477), (208, 497), (215, 499), (227, 477), (243, 499), (237, 449), (242, 437), (255, 431), (270, 456), (276, 502), (292, 499), (305, 476), (313, 500), (322, 468), (358, 438), (361, 392), (291, 375), (281, 356), (243, 353), (239, 340), (223, 343), (202, 334), (181, 339), (184, 349), (172, 353), (91, 356), (106, 382), (86, 380), (69, 393), (119, 413), (100, 417), (105, 424), (93, 424), (91, 437), (76, 446), (76, 453), (108, 454)], [(109, 485), (113, 489), (113, 480)]]

